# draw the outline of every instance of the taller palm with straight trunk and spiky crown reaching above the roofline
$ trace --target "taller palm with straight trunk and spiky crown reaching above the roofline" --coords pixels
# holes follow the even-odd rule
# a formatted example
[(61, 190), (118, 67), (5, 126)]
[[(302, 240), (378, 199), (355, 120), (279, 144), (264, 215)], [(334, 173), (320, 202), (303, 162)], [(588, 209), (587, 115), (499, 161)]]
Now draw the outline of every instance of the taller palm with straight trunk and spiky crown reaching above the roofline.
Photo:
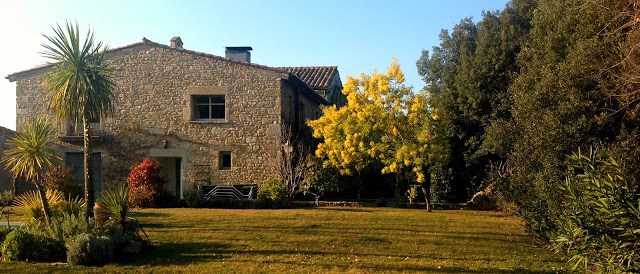
[(82, 120), (84, 125), (84, 184), (87, 217), (93, 216), (93, 168), (89, 121), (112, 111), (113, 70), (106, 58), (107, 47), (95, 42), (91, 30), (80, 41), (78, 24), (66, 22), (66, 33), (57, 25), (54, 36), (43, 35), (52, 45), (43, 56), (53, 60), (44, 86), (52, 93), (51, 107), (61, 119)]

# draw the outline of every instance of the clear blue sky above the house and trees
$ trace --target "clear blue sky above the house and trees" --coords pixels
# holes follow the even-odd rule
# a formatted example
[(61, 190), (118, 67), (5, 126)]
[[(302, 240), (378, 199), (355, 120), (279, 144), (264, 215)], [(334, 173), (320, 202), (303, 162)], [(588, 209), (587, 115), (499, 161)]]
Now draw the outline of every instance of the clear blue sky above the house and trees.
[(507, 0), (450, 1), (4, 1), (0, 9), (0, 126), (15, 129), (15, 83), (8, 74), (42, 65), (41, 34), (77, 21), (110, 47), (142, 37), (224, 56), (225, 46), (251, 46), (251, 61), (267, 66), (337, 65), (343, 82), (386, 71), (398, 58), (406, 84), (424, 83), (415, 66), (422, 49), (439, 44), (441, 29), (481, 19)]

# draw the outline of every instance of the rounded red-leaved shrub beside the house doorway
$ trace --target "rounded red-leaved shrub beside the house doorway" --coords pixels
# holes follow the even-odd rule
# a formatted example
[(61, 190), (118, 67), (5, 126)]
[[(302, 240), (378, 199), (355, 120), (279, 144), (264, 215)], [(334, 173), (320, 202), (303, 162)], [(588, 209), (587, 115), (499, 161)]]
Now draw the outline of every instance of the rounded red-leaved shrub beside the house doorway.
[(131, 191), (129, 199), (138, 207), (158, 206), (159, 199), (167, 192), (165, 181), (160, 176), (160, 165), (151, 158), (131, 166), (127, 183)]

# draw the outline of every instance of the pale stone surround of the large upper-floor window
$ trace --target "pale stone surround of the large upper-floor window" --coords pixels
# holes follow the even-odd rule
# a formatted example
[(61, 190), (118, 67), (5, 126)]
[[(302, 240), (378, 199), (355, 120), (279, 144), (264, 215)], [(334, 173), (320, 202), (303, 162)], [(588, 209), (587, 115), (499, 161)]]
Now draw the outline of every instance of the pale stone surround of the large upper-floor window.
[[(196, 120), (195, 115), (195, 98), (196, 96), (224, 96), (224, 119), (198, 119)], [(195, 124), (211, 124), (211, 123), (228, 123), (230, 121), (230, 116), (232, 115), (230, 111), (231, 100), (229, 100), (229, 87), (227, 86), (190, 86), (187, 87), (186, 92), (186, 101), (188, 102), (188, 106), (183, 109), (184, 120), (189, 123)]]

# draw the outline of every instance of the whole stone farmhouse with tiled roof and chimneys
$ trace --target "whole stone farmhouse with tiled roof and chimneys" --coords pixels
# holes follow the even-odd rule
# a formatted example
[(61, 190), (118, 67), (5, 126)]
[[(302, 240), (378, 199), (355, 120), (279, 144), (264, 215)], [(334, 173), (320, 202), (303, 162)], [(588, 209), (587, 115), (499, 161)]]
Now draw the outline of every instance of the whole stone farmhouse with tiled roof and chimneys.
[[(335, 66), (268, 67), (251, 47), (225, 57), (142, 42), (109, 50), (116, 71), (115, 109), (91, 124), (96, 191), (125, 182), (130, 166), (156, 159), (167, 189), (261, 184), (279, 177), (283, 126), (298, 134), (321, 105), (344, 105)], [(51, 65), (13, 73), (17, 131), (38, 115), (53, 117), (42, 82)], [(82, 125), (59, 121), (58, 151), (82, 181)]]

